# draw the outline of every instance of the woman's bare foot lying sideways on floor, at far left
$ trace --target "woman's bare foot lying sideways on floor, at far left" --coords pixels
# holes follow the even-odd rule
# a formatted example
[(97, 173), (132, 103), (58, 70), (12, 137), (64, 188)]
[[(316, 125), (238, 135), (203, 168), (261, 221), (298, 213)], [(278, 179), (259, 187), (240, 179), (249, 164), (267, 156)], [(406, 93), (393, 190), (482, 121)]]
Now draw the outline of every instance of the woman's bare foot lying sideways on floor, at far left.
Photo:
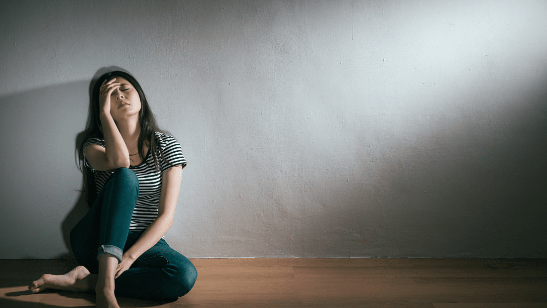
[[(92, 290), (95, 286), (93, 276), (88, 269), (80, 265), (65, 275), (44, 274), (38, 280), (33, 281), (28, 289), (32, 293), (38, 293), (45, 289), (57, 289), (65, 291), (82, 292)], [(95, 277), (95, 283), (96, 283)]]

